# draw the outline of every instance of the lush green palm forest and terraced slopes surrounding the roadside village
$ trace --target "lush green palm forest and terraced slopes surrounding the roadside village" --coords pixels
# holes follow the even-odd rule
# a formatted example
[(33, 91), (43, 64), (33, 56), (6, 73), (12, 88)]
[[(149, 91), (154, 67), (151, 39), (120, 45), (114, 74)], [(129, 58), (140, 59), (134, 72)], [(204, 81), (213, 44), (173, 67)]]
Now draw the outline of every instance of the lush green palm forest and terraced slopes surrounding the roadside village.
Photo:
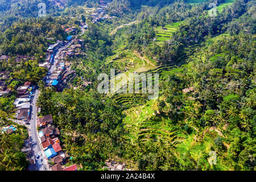
[[(2, 1), (2, 14), (19, 11), (19, 1), (11, 9)], [(100, 4), (96, 0), (67, 1), (46, 18), (3, 16), (0, 55), (10, 59), (0, 60), (0, 71), (11, 72), (9, 81), (38, 84), (39, 115), (52, 114), (69, 163), (80, 170), (103, 170), (114, 160), (133, 170), (255, 171), (256, 2), (218, 0), (216, 16), (210, 16), (210, 2), (113, 0), (106, 14), (114, 18), (98, 23), (88, 13)], [(28, 11), (33, 14), (33, 6)], [(38, 64), (47, 38), (65, 39), (61, 26), (78, 28), (81, 19), (88, 24), (80, 37), (84, 55), (67, 59), (76, 77), (56, 92), (42, 81), (47, 69)], [(35, 59), (17, 64), (16, 55)], [(97, 76), (110, 69), (159, 73), (159, 97), (98, 93)], [(15, 92), (0, 97), (1, 125), (13, 117), (14, 99)], [(18, 140), (27, 134), (19, 131), (0, 136), (1, 170), (26, 168)]]

